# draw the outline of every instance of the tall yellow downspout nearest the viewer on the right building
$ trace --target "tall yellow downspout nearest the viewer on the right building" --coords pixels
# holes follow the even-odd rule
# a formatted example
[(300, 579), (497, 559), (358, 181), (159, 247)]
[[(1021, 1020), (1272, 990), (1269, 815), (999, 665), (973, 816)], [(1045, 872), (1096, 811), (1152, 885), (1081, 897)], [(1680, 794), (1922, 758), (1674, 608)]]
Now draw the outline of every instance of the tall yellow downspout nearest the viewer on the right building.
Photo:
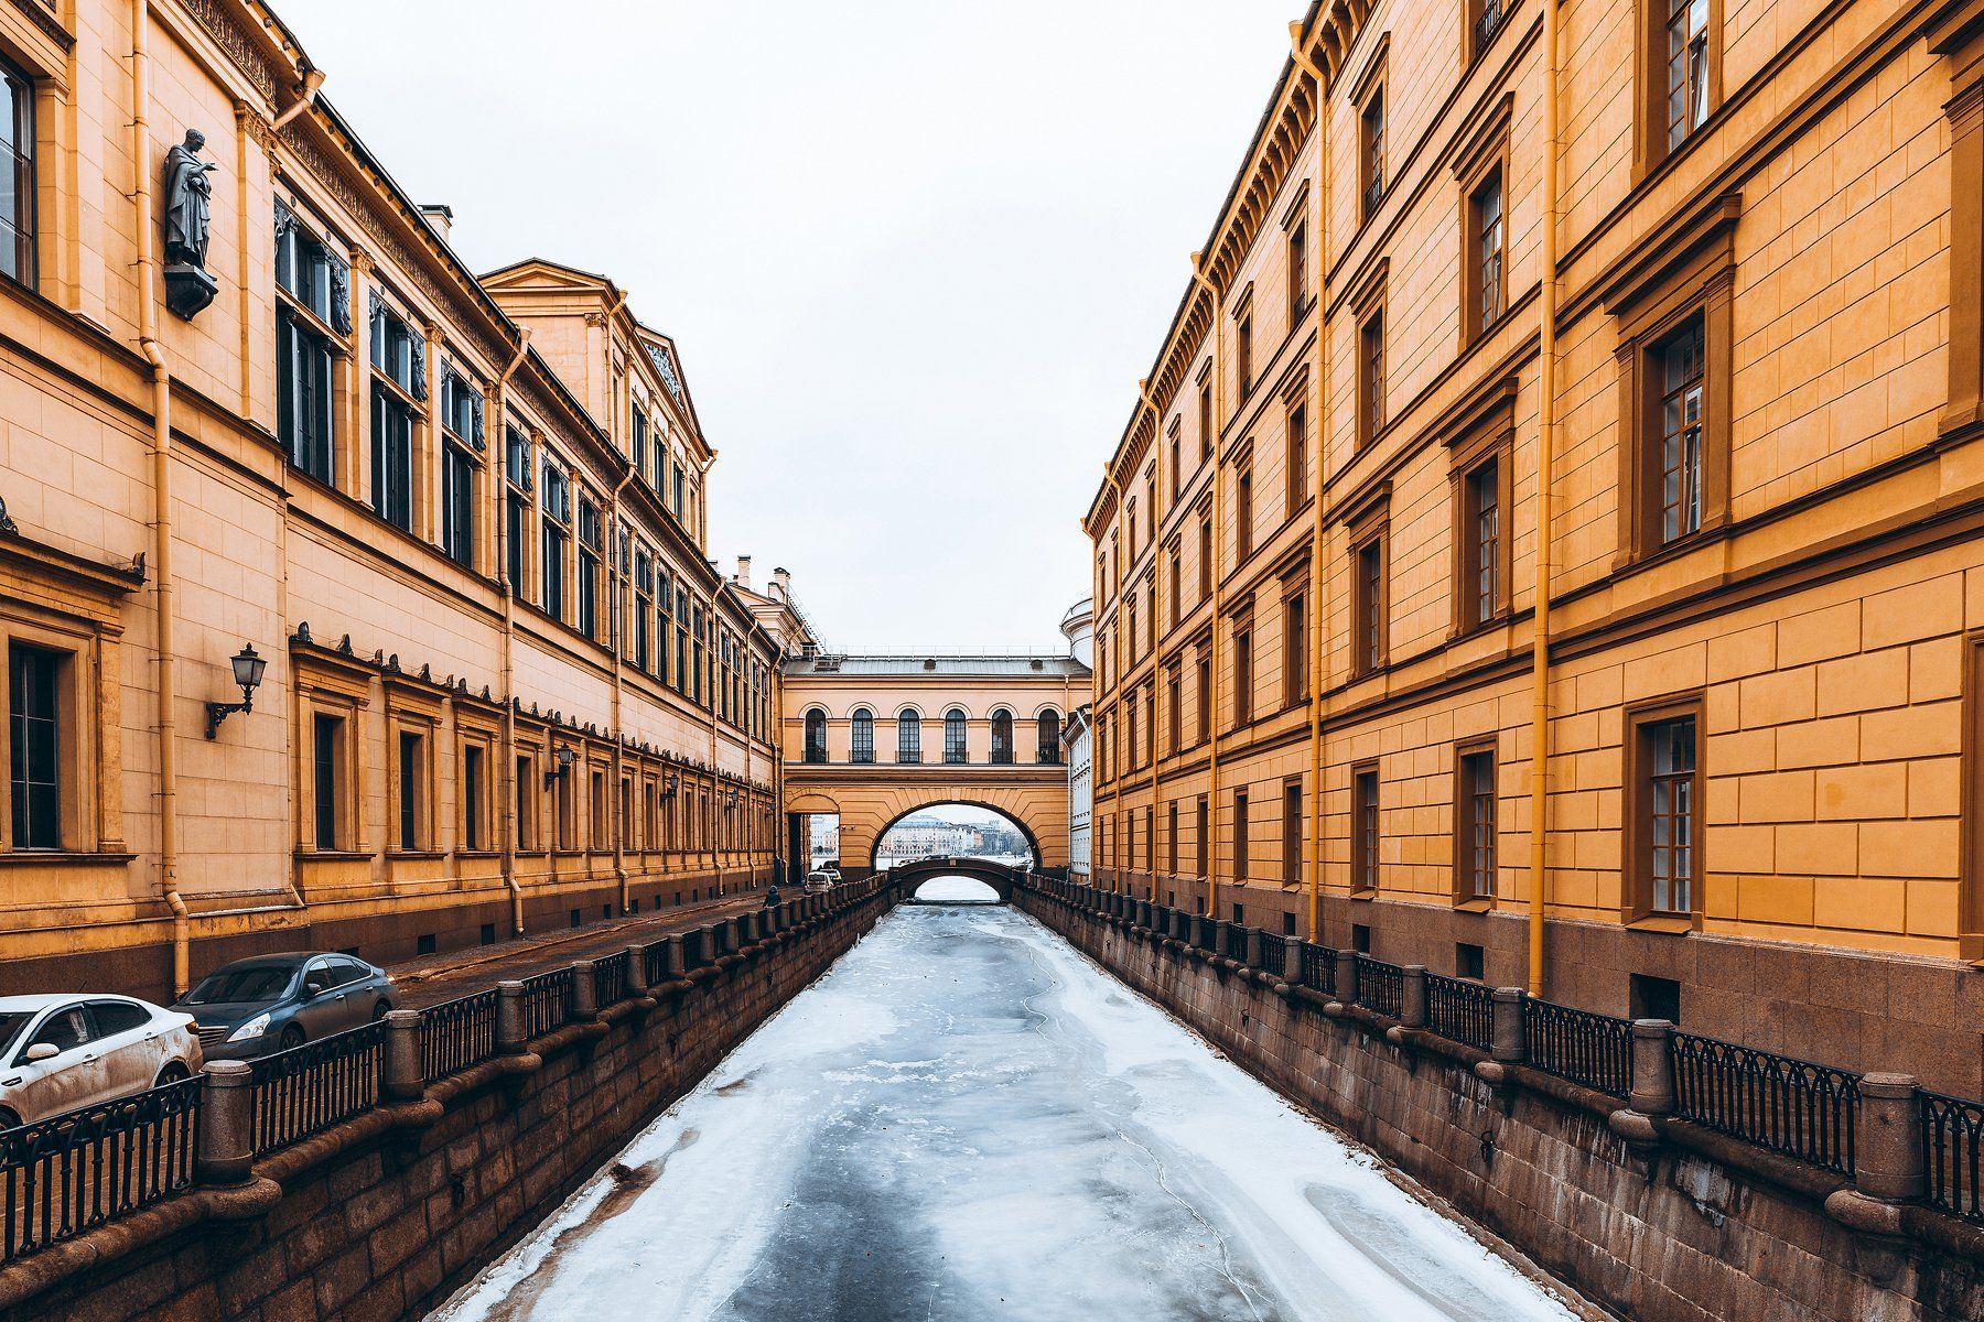
[(1550, 476), (1557, 432), (1557, 0), (1544, 0), (1544, 279), (1536, 408), (1536, 628), (1530, 666), (1530, 995), (1544, 995), (1544, 884), (1550, 838)]

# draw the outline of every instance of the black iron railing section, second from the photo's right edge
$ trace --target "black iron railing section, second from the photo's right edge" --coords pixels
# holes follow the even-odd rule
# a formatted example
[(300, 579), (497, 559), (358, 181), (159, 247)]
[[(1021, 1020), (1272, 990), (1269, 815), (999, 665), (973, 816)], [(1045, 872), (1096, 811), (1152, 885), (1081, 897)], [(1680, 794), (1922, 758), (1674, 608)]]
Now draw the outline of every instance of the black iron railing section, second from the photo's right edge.
[(1671, 1041), (1676, 1116), (1853, 1173), (1859, 1074), (1692, 1033), (1674, 1033)]

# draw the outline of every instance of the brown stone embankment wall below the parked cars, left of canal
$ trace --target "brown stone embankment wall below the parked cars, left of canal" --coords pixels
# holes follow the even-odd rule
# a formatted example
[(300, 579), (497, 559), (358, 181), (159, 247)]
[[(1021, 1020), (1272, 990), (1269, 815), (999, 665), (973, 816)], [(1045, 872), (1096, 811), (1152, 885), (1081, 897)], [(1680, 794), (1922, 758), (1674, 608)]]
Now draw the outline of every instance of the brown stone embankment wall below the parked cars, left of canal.
[[(260, 1221), (198, 1221), (125, 1257), (77, 1261), (81, 1270), (0, 1318), (425, 1316), (819, 977), (891, 902), (893, 892), (881, 892), (724, 969), (696, 971), (692, 987), (663, 995), (645, 1015), (621, 1003), (607, 1011), (603, 1035), (561, 1029), (534, 1043), (542, 1068), (508, 1082), (484, 1070), (478, 1086), (448, 1096), (431, 1128), (371, 1136), (296, 1173), (286, 1169), (294, 1161), (278, 1159), (282, 1201)], [(262, 1163), (258, 1173), (270, 1169)]]

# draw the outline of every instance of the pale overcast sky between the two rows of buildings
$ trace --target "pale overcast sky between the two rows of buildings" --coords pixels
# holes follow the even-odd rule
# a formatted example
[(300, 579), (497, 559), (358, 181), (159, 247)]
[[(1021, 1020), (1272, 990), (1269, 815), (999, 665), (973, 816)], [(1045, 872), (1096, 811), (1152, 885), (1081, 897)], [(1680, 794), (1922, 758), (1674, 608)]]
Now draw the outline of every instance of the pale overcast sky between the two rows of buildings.
[(710, 555), (841, 650), (1057, 650), (1081, 515), (1302, 0), (278, 0), (484, 272), (605, 272)]

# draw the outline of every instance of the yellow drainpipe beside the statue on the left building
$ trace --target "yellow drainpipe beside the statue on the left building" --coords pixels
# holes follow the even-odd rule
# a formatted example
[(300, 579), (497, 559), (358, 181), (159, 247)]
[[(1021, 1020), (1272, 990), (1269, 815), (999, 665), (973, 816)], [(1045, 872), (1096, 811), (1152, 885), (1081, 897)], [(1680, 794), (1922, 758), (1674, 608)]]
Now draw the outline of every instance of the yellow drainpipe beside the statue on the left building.
[(159, 664), (159, 886), (173, 912), (173, 997), (190, 985), (190, 916), (179, 894), (179, 652), (173, 642), (173, 371), (159, 343), (151, 192), (151, 2), (131, 0), (131, 166), (137, 174), (137, 345), (151, 365), (151, 523)]

